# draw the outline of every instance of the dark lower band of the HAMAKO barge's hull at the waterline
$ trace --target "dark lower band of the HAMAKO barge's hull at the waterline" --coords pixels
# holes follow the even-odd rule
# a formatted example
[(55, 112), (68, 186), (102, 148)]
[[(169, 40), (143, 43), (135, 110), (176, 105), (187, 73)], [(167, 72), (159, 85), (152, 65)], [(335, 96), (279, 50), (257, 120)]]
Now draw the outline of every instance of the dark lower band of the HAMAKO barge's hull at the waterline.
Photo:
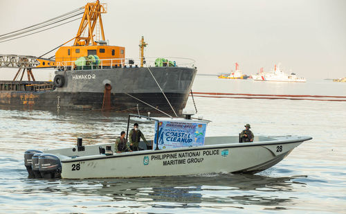
[[(0, 91), (2, 109), (43, 109), (50, 111), (93, 110), (116, 112), (158, 112), (153, 107), (166, 113), (172, 108), (163, 93), (111, 93), (110, 105), (104, 105), (104, 93), (56, 93), (54, 91)], [(189, 93), (165, 93), (176, 113), (186, 105)], [(137, 98), (137, 99), (136, 99)], [(143, 101), (143, 102), (142, 102)], [(145, 104), (146, 102), (153, 107)]]

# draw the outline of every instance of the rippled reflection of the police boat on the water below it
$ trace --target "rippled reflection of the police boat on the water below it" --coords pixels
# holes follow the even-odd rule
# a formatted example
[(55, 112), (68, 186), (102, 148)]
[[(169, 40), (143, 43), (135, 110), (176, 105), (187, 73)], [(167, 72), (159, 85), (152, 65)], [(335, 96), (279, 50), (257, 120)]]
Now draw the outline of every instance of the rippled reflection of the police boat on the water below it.
[[(284, 206), (292, 199), (275, 193), (294, 191), (296, 178), (299, 177), (213, 174), (98, 180), (24, 179), (21, 182), (26, 194), (97, 195), (113, 201), (166, 202), (170, 207), (191, 203)], [(305, 185), (296, 181), (294, 184)]]

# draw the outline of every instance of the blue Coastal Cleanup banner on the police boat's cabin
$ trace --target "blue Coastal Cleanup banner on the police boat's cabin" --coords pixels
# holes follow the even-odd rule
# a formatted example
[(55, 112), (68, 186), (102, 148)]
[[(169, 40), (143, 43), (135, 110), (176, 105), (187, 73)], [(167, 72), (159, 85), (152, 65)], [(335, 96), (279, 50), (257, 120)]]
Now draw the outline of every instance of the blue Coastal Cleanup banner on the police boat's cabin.
[(153, 149), (156, 148), (157, 127), (159, 149), (204, 145), (206, 123), (156, 121)]

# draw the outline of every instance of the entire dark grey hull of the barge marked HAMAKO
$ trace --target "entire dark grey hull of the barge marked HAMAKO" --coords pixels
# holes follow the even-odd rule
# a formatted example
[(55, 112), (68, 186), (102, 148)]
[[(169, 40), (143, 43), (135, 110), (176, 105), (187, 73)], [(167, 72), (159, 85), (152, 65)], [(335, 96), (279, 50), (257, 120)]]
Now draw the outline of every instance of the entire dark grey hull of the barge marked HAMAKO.
[[(154, 78), (178, 114), (186, 105), (197, 69), (149, 67)], [(172, 112), (148, 68), (116, 68), (56, 71), (64, 84), (51, 91), (1, 90), (0, 106), (28, 109), (108, 109), (120, 112)], [(108, 96), (105, 85), (111, 90)], [(20, 88), (20, 87), (19, 87)], [(145, 104), (146, 102), (147, 104)]]

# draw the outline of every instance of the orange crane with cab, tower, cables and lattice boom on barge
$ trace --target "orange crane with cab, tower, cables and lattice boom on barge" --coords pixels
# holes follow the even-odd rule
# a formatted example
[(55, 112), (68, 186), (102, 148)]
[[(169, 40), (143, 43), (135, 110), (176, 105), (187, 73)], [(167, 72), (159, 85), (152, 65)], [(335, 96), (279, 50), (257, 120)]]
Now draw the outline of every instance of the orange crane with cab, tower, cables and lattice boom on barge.
[[(82, 10), (84, 10), (84, 12), (81, 12)], [(42, 58), (43, 55), (41, 57), (28, 55), (0, 55), (0, 68), (18, 68), (19, 70), (15, 75), (14, 80), (20, 75), (21, 71), (23, 71), (23, 73), (21, 74), (22, 79), (24, 76), (24, 72), (27, 71), (28, 80), (30, 80), (31, 77), (35, 81), (31, 69), (56, 68), (57, 66), (61, 66), (62, 64), (64, 66), (74, 66), (74, 61), (77, 60), (78, 57), (84, 57), (88, 55), (98, 55), (101, 60), (125, 58), (124, 47), (109, 46), (106, 42), (101, 17), (101, 14), (106, 12), (107, 4), (100, 3), (100, 1), (97, 0), (93, 3), (86, 3), (86, 6), (84, 6), (83, 8), (78, 8), (59, 17), (44, 21), (40, 24), (35, 24), (28, 28), (0, 35), (0, 43), (7, 42), (12, 39), (18, 39), (20, 37), (39, 33), (43, 31), (39, 30), (41, 28), (45, 28), (44, 30), (48, 30), (49, 28), (46, 27), (50, 25), (55, 25), (53, 27), (60, 26), (62, 24), (57, 25), (59, 22), (83, 14), (78, 32), (76, 36), (73, 37), (73, 46), (64, 46), (65, 44), (73, 40), (70, 39), (68, 42), (65, 42), (64, 44), (57, 47), (58, 49), (55, 53), (55, 57), (51, 57), (48, 59)], [(72, 21), (75, 20), (77, 19), (73, 19)], [(69, 22), (71, 21), (67, 21), (63, 24), (67, 24)], [(35, 32), (35, 30), (39, 31)], [(30, 33), (32, 31), (34, 31), (34, 33)], [(94, 34), (94, 31), (96, 32), (96, 35)], [(54, 51), (55, 49), (56, 48), (54, 48), (52, 51)], [(48, 53), (50, 52), (51, 51), (49, 51)], [(45, 53), (44, 55), (48, 53)], [(104, 62), (104, 66), (111, 65), (111, 63), (112, 65), (120, 65), (120, 62), (121, 60), (109, 60), (109, 62)]]

